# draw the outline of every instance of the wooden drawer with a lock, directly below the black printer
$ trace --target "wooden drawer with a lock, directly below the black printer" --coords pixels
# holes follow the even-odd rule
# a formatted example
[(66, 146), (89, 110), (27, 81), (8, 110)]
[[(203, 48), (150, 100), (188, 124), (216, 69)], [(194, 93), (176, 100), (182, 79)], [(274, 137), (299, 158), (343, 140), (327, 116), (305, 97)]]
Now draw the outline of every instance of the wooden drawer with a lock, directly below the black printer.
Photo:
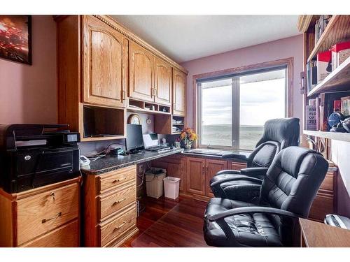
[(18, 245), (78, 217), (79, 186), (70, 184), (23, 198), (18, 206)]

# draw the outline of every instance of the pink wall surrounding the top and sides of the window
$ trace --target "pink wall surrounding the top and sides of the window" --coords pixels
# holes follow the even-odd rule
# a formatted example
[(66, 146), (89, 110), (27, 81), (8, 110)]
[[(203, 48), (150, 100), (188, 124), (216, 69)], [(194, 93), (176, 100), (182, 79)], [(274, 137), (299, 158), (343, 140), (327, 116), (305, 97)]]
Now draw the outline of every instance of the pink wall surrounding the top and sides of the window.
[[(299, 75), (302, 71), (302, 35), (284, 38), (269, 43), (253, 45), (230, 52), (202, 57), (182, 63), (188, 70), (187, 78), (187, 122), (193, 126), (193, 75), (209, 73), (227, 68), (248, 66), (266, 61), (294, 57), (293, 115), (302, 119), (302, 96), (299, 93)], [(302, 123), (300, 122), (300, 126)]]

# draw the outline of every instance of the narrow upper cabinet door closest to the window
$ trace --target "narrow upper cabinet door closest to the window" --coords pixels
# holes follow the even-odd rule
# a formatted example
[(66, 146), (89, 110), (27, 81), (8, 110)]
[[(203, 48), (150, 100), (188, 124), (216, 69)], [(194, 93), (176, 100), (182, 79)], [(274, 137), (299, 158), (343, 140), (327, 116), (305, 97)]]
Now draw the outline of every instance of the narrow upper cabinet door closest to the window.
[(173, 114), (186, 114), (186, 74), (173, 69)]

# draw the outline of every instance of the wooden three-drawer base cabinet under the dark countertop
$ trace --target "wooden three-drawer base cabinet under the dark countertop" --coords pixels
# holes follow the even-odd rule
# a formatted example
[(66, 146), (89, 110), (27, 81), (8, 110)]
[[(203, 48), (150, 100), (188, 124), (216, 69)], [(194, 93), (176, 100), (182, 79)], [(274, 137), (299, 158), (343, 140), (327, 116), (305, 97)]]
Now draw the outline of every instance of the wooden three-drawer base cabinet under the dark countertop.
[(137, 233), (136, 166), (84, 174), (84, 246), (118, 247)]

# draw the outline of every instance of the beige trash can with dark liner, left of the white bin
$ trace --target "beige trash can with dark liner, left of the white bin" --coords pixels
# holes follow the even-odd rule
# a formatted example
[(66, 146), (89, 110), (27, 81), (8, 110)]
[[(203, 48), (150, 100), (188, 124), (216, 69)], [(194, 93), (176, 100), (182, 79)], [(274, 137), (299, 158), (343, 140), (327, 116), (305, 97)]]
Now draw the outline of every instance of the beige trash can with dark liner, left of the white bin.
[(151, 168), (145, 173), (146, 194), (152, 198), (160, 198), (163, 195), (163, 179), (166, 175), (164, 168)]

